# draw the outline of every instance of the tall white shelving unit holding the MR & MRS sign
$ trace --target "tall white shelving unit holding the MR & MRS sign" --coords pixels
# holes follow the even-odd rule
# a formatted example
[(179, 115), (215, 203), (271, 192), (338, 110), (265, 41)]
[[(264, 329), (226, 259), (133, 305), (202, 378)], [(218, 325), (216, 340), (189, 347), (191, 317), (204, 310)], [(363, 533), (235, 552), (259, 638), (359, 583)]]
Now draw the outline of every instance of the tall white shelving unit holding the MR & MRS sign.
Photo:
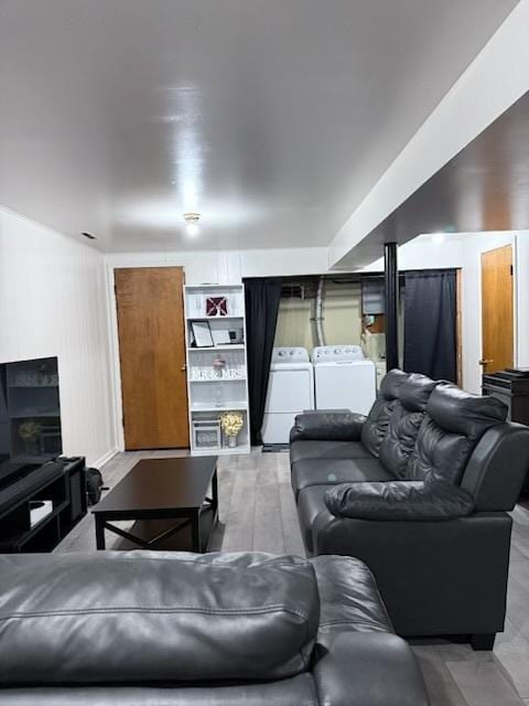
[[(206, 315), (209, 297), (226, 299), (226, 315)], [(193, 456), (249, 453), (245, 287), (185, 286), (184, 309), (191, 452)], [(194, 343), (193, 321), (207, 321), (215, 338), (225, 340), (229, 336), (236, 342), (198, 347)], [(224, 361), (222, 370), (218, 365), (214, 367), (215, 360)], [(242, 413), (244, 427), (237, 436), (236, 447), (228, 447), (228, 439), (220, 429), (219, 416), (223, 411)]]

